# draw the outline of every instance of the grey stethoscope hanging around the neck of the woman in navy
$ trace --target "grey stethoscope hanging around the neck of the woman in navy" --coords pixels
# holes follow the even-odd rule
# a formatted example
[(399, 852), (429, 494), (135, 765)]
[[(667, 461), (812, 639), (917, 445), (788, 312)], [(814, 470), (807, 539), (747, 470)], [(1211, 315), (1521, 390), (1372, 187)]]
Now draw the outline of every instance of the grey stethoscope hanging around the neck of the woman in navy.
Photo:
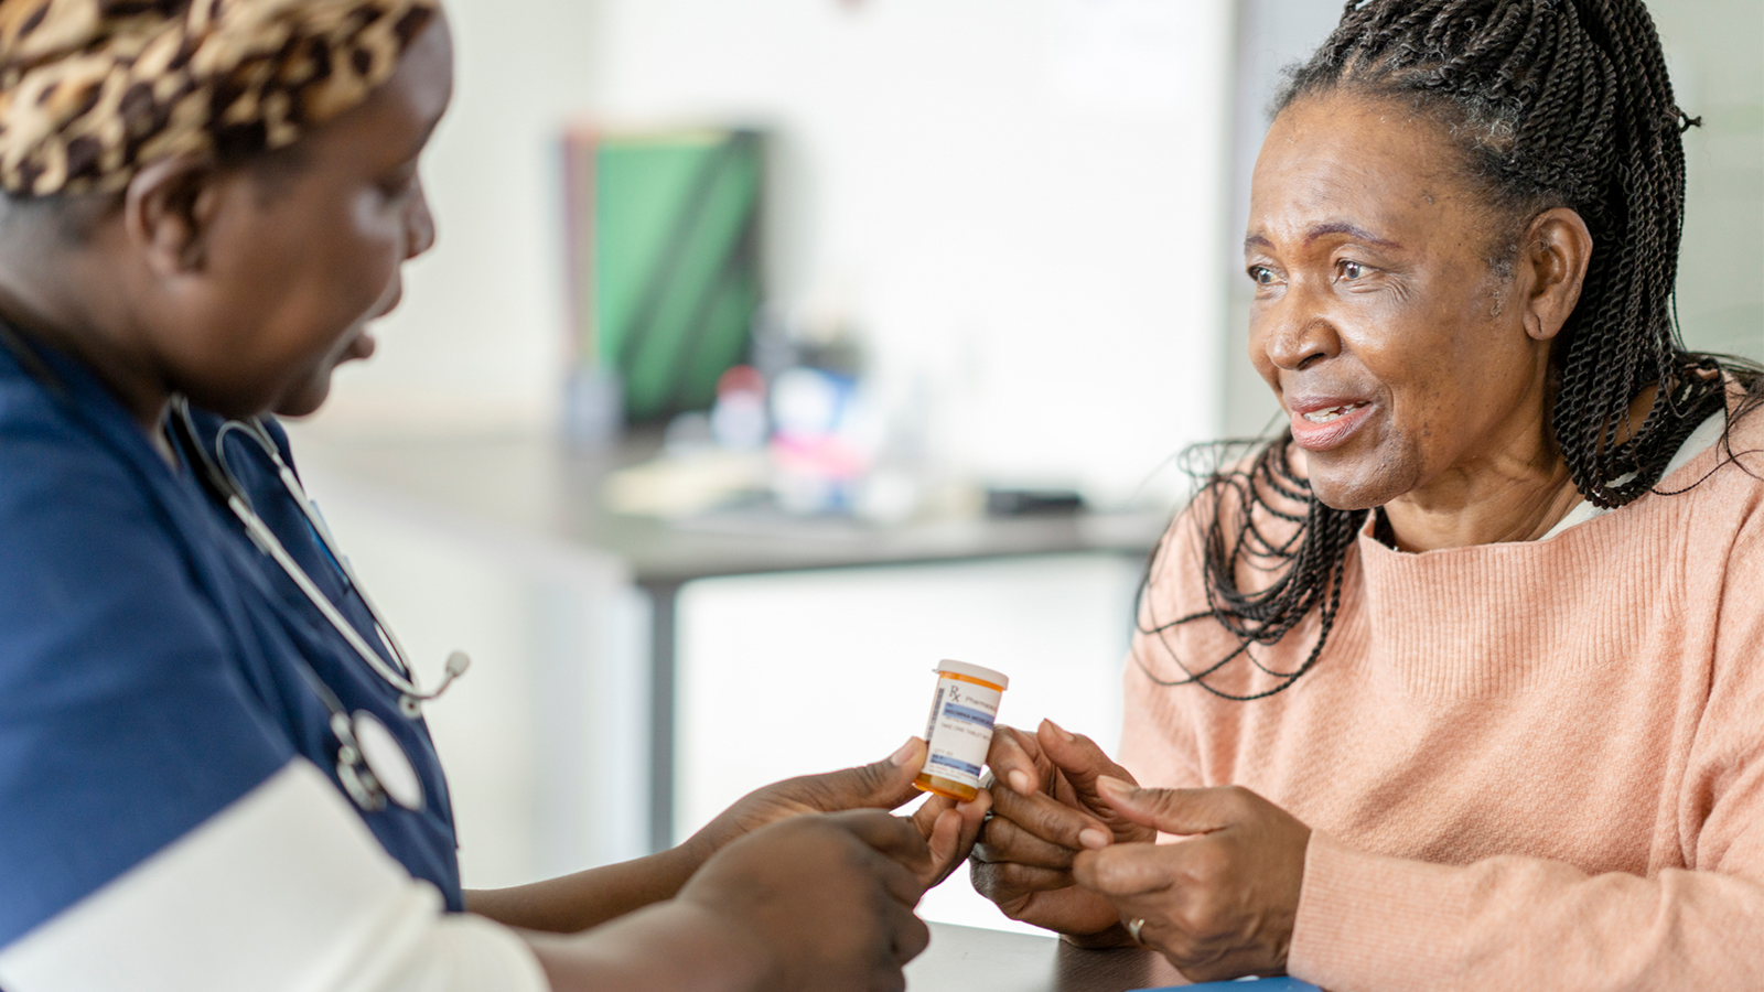
[[(180, 443), (189, 450), (201, 464), (194, 466), (199, 470), (203, 485), (220, 500), (228, 510), (245, 526), (245, 535), (263, 554), (270, 556), (282, 572), (300, 588), (302, 593), (312, 602), (312, 605), (325, 616), (326, 621), (342, 639), (355, 650), (355, 653), (374, 671), (381, 680), (392, 688), (399, 690), (399, 713), (407, 720), (422, 717), (423, 703), (430, 699), (439, 699), (443, 692), (453, 685), (453, 680), (466, 674), (471, 667), (471, 657), (464, 651), (453, 651), (446, 660), (446, 674), (441, 678), (441, 685), (434, 692), (423, 692), (416, 683), (416, 671), (406, 660), (404, 646), (399, 643), (397, 635), (392, 634), (392, 627), (386, 625), (385, 618), (379, 614), (379, 607), (367, 595), (367, 590), (355, 577), (355, 567), (349, 560), (337, 551), (337, 542), (330, 533), (330, 526), (325, 517), (319, 515), (318, 507), (307, 498), (307, 491), (300, 485), (300, 477), (295, 475), (288, 462), (282, 461), (280, 450), (277, 450), (275, 441), (270, 440), (268, 431), (256, 418), (252, 420), (228, 420), (220, 425), (215, 434), (213, 454), (198, 440), (196, 420), (191, 417), (191, 404), (183, 397), (175, 397), (173, 417), (169, 417), (171, 429), (178, 434)], [(263, 454), (275, 466), (275, 475), (280, 478), (288, 494), (293, 496), (295, 505), (305, 515), (307, 522), (312, 526), (312, 533), (318, 535), (325, 554), (337, 565), (342, 572), (344, 581), (362, 597), (362, 604), (367, 605), (369, 616), (374, 618), (374, 630), (379, 639), (386, 644), (386, 650), (393, 657), (393, 664), (386, 664), (379, 657), (379, 651), (369, 646), (367, 639), (355, 628), (353, 623), (332, 604), (330, 597), (312, 581), (300, 561), (282, 545), (275, 531), (263, 522), (263, 517), (250, 507), (250, 500), (245, 496), (245, 487), (240, 485), (238, 477), (228, 464), (226, 440), (228, 434), (238, 432), (243, 438), (254, 441)], [(411, 764), (409, 755), (399, 745), (392, 731), (379, 722), (377, 717), (365, 710), (356, 710), (349, 713), (337, 694), (332, 692), (325, 680), (312, 669), (312, 665), (296, 655), (300, 662), (302, 676), (307, 685), (312, 687), (314, 694), (325, 703), (330, 711), (330, 731), (337, 738), (337, 780), (342, 782), (344, 791), (358, 807), (369, 812), (379, 812), (386, 808), (386, 800), (399, 803), (407, 810), (423, 808), (423, 785), (422, 778), (416, 775), (416, 768)]]

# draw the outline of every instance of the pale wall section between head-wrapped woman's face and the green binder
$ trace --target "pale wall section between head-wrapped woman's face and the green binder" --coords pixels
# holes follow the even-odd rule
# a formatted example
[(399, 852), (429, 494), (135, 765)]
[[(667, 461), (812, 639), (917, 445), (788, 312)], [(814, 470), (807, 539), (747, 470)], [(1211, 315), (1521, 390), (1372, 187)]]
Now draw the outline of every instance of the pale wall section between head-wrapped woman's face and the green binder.
[(499, 432), (554, 420), (564, 362), (557, 138), (594, 90), (596, 0), (446, 0), (453, 106), (423, 159), (439, 242), (326, 427)]

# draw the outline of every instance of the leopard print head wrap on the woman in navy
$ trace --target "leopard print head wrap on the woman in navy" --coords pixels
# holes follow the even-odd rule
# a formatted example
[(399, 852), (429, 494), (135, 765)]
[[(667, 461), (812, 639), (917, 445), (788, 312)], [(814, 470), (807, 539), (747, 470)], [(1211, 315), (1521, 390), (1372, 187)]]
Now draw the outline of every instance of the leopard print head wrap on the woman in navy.
[(439, 0), (0, 0), (0, 189), (115, 192), (284, 148), (397, 69)]

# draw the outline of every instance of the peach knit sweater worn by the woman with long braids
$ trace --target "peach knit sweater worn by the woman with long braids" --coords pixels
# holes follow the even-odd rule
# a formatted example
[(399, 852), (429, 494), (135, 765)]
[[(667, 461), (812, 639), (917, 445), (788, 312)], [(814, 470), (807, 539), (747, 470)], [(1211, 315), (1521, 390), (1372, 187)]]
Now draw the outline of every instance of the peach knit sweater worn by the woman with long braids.
[[(1732, 432), (1764, 475), (1757, 448), (1764, 413)], [(1725, 454), (1542, 542), (1362, 531), (1327, 650), (1268, 699), (1147, 676), (1182, 674), (1166, 648), (1222, 657), (1210, 620), (1140, 635), (1122, 763), (1312, 828), (1289, 969), (1334, 992), (1764, 990), (1764, 482)], [(1192, 528), (1141, 620), (1205, 609)], [(1256, 657), (1291, 669), (1314, 639)]]

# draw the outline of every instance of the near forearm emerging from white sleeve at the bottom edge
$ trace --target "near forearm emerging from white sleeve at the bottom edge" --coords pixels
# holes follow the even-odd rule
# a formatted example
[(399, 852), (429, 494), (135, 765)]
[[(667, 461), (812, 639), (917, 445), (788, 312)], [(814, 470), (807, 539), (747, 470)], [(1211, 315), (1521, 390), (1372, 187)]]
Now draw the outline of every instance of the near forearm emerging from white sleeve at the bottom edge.
[(589, 934), (526, 934), (552, 992), (759, 992), (769, 958), (729, 920), (686, 902)]

